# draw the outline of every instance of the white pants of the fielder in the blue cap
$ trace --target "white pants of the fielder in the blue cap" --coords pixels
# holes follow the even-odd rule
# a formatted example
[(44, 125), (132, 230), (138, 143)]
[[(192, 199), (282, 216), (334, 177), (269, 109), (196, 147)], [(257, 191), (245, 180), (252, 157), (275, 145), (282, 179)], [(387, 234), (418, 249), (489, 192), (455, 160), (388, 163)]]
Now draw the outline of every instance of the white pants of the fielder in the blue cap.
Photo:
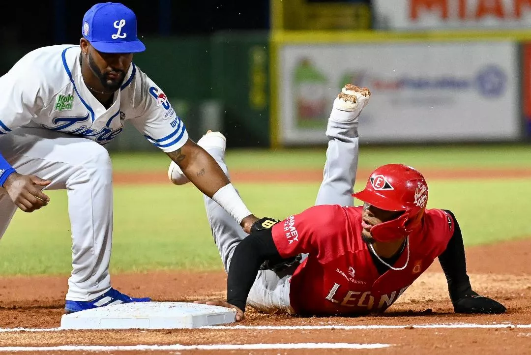
[[(67, 190), (72, 273), (66, 299), (88, 301), (109, 290), (113, 180), (107, 150), (87, 138), (22, 127), (0, 136), (0, 152), (20, 174), (51, 180), (46, 189)], [(16, 209), (0, 188), (0, 238)]]

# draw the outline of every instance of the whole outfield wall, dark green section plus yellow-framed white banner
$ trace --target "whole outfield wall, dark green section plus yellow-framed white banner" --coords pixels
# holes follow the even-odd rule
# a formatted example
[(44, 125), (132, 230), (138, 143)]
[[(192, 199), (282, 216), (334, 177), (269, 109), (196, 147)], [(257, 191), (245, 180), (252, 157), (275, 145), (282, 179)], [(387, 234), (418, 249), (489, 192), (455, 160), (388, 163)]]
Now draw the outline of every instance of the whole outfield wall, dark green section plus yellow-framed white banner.
[[(230, 31), (143, 41), (148, 50), (134, 62), (195, 140), (211, 128), (229, 148), (322, 145), (346, 82), (373, 92), (364, 143), (531, 137), (531, 31)], [(21, 55), (8, 51), (5, 67)], [(129, 125), (108, 147), (157, 150)]]

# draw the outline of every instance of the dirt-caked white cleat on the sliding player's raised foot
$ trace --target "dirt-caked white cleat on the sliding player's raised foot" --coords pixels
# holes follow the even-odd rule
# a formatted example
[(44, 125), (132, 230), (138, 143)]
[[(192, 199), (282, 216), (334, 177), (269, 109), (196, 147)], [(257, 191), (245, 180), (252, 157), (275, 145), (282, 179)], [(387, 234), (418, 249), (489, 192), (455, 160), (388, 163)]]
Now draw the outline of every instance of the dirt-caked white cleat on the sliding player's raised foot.
[[(333, 120), (339, 120), (340, 122), (353, 121), (359, 116), (359, 114), (361, 114), (363, 108), (369, 103), (370, 98), (371, 91), (369, 89), (360, 88), (353, 84), (346, 84), (345, 87), (341, 89), (337, 98), (333, 101), (332, 115), (330, 115), (330, 117)], [(349, 114), (333, 115), (335, 109), (349, 112)]]

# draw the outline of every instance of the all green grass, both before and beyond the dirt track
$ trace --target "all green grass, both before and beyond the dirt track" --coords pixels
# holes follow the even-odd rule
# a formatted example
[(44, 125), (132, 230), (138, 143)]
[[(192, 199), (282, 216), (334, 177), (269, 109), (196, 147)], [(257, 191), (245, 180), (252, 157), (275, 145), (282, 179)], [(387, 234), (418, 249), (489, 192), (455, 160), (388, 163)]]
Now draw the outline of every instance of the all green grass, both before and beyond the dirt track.
[[(362, 148), (360, 166), (401, 161), (423, 167), (531, 167), (530, 148)], [(500, 161), (498, 161), (500, 159)], [(294, 152), (230, 151), (229, 167), (322, 168), (324, 150)], [(400, 160), (399, 160), (400, 161)], [(412, 162), (411, 162), (412, 161)], [(115, 170), (165, 170), (163, 153), (114, 154)], [(358, 181), (356, 189), (365, 181)], [(531, 236), (526, 179), (436, 180), (429, 207), (456, 213), (467, 246)], [(313, 184), (239, 184), (244, 201), (257, 215), (284, 218), (313, 205)], [(70, 225), (65, 191), (49, 191), (52, 202), (31, 214), (18, 212), (0, 241), (0, 275), (68, 274)], [(201, 194), (191, 185), (115, 187), (113, 273), (155, 269), (220, 270)]]

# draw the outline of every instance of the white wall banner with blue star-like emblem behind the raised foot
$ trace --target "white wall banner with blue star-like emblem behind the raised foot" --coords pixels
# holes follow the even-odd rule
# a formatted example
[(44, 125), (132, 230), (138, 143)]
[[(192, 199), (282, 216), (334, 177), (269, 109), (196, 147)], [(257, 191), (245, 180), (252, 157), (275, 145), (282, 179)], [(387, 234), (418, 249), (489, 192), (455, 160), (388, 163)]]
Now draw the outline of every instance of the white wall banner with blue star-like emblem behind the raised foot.
[(331, 105), (346, 83), (372, 92), (361, 141), (518, 139), (517, 53), (509, 41), (282, 45), (280, 143), (326, 143)]

